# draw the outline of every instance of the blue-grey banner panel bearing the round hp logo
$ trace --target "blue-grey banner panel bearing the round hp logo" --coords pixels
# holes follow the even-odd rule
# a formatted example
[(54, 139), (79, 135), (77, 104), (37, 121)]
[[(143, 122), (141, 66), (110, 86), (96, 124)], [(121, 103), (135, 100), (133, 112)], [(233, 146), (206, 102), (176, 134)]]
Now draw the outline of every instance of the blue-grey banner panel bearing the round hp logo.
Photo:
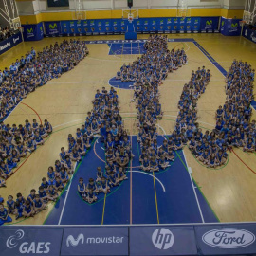
[(130, 255), (197, 255), (193, 227), (131, 227)]

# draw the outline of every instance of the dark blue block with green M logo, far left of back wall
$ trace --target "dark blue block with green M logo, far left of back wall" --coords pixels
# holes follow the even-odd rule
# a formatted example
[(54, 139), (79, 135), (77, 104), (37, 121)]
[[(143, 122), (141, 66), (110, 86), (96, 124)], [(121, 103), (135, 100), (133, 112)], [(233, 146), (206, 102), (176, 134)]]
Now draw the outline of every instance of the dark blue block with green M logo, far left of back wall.
[(44, 38), (43, 24), (29, 24), (23, 25), (24, 41), (39, 41)]

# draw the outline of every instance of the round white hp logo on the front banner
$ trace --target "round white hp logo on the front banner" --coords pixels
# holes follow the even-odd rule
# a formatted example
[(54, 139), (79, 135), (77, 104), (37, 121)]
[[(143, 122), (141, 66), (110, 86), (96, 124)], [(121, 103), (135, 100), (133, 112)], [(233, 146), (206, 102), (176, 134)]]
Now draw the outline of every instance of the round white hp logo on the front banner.
[(152, 243), (158, 249), (168, 249), (174, 245), (174, 234), (169, 229), (155, 229)]

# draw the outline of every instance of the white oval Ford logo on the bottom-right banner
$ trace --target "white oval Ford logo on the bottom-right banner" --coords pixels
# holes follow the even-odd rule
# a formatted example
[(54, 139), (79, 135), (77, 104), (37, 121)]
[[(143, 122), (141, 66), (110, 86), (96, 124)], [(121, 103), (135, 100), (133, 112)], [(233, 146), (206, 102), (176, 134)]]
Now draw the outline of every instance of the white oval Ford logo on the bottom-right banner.
[(202, 237), (205, 244), (218, 248), (247, 247), (255, 241), (253, 233), (244, 229), (213, 229)]

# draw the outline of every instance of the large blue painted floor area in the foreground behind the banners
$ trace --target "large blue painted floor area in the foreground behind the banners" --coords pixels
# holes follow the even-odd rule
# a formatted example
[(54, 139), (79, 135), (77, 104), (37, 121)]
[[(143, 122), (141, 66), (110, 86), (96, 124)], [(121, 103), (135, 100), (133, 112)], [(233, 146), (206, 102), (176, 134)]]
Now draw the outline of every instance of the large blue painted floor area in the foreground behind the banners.
[[(162, 140), (163, 137), (158, 137), (159, 142)], [(132, 149), (136, 156), (127, 169), (129, 179), (112, 188), (105, 200), (100, 194), (98, 202), (89, 205), (77, 193), (77, 185), (80, 177), (87, 183), (90, 177), (96, 177), (98, 166), (104, 168), (104, 151), (101, 142), (96, 142), (95, 152), (89, 151), (74, 175), (66, 200), (64, 192), (45, 224), (58, 224), (61, 215), (63, 225), (201, 223), (202, 216), (205, 222), (218, 221), (193, 183), (182, 151), (176, 153), (169, 169), (155, 173), (154, 182), (154, 174), (138, 169), (137, 137), (132, 137)]]

